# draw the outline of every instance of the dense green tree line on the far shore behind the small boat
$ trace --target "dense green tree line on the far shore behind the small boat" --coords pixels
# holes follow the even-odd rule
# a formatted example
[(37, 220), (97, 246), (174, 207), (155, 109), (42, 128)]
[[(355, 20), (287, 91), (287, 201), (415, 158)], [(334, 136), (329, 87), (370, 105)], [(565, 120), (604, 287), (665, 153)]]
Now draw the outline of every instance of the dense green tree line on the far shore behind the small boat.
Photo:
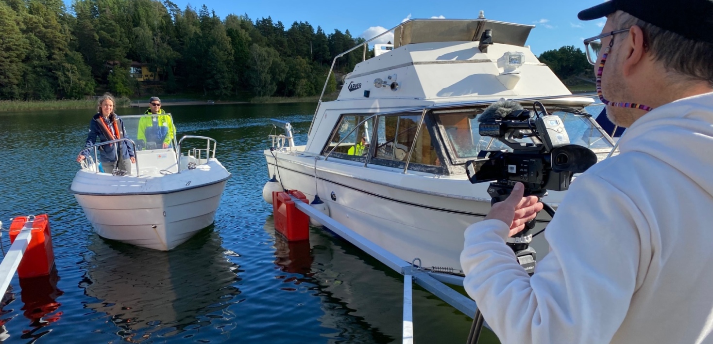
[[(162, 75), (168, 93), (319, 95), (332, 58), (363, 42), (349, 30), (221, 19), (205, 5), (182, 10), (169, 0), (74, 0), (71, 9), (62, 0), (0, 0), (0, 100), (135, 95), (131, 63)], [(361, 54), (339, 58), (335, 70), (351, 71)]]

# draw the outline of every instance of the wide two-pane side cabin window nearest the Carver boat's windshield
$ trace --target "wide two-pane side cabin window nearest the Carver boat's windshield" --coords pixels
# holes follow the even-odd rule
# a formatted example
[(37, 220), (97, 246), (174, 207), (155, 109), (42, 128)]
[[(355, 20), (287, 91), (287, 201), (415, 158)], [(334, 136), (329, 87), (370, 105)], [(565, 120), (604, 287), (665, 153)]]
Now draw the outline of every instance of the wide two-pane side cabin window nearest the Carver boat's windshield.
[[(405, 163), (409, 158), (409, 150), (413, 146), (414, 153), (411, 154), (410, 163), (441, 166), (426, 123), (421, 124), (421, 130), (416, 136), (416, 128), (420, 120), (421, 114), (379, 116), (374, 158)], [(415, 145), (414, 141), (416, 141)]]

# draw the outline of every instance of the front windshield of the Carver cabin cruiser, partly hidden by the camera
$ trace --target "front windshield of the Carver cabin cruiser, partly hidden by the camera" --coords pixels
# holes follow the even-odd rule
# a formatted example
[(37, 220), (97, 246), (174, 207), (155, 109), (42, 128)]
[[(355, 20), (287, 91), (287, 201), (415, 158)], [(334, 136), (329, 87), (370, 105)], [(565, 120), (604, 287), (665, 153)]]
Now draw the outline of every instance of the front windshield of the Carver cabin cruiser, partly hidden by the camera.
[[(548, 106), (547, 109), (564, 122), (570, 144), (585, 146), (595, 153), (609, 152), (613, 148), (612, 139), (602, 131), (586, 109), (556, 106)], [(476, 109), (473, 112), (436, 114), (438, 124), (445, 134), (448, 150), (456, 159), (476, 158), (481, 151), (512, 151), (498, 139), (478, 134), (478, 114), (482, 111), (483, 109)], [(516, 141), (533, 143), (532, 138)]]

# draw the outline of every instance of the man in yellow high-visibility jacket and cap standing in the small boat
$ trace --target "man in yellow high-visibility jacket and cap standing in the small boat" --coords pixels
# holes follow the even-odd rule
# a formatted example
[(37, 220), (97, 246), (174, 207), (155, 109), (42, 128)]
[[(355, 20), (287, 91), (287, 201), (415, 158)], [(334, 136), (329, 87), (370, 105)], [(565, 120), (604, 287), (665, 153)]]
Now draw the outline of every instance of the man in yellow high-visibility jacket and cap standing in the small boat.
[(148, 100), (150, 108), (144, 112), (147, 116), (141, 117), (138, 121), (138, 133), (136, 138), (144, 142), (145, 149), (168, 148), (175, 136), (173, 121), (166, 112), (161, 109), (161, 100), (158, 97), (151, 97)]

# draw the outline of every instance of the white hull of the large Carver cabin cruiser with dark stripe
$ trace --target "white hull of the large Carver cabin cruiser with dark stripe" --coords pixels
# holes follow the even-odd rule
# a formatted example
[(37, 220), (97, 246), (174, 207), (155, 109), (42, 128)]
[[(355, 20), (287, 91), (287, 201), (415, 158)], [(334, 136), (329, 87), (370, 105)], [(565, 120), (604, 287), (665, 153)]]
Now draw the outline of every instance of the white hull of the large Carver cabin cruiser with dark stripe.
[[(276, 157), (279, 173), (275, 158), (265, 154), (270, 176), (277, 176), (284, 188), (300, 190), (310, 200), (318, 192), (334, 220), (406, 262), (421, 259), (423, 267), (461, 273), (463, 232), (483, 220), (491, 208), (488, 183), (409, 176), (363, 168), (363, 163), (349, 166), (344, 161), (319, 161), (315, 181), (313, 157), (282, 153)], [(414, 188), (408, 187), (409, 179)], [(549, 220), (540, 214), (535, 232)], [(549, 250), (544, 236), (535, 237), (531, 246), (538, 257)]]

